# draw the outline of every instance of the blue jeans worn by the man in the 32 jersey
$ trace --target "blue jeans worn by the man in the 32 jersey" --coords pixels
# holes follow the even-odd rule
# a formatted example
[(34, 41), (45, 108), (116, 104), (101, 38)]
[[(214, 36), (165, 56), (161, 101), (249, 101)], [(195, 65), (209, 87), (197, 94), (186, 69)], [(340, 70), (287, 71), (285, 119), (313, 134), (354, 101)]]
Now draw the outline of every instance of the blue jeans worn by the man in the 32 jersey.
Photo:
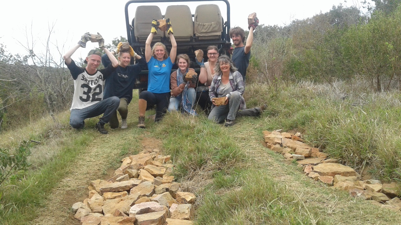
[(72, 109), (70, 115), (70, 125), (75, 129), (83, 128), (87, 118), (92, 118), (103, 114), (99, 119), (99, 123), (105, 124), (110, 121), (111, 116), (117, 110), (120, 104), (118, 97), (111, 97), (83, 109)]

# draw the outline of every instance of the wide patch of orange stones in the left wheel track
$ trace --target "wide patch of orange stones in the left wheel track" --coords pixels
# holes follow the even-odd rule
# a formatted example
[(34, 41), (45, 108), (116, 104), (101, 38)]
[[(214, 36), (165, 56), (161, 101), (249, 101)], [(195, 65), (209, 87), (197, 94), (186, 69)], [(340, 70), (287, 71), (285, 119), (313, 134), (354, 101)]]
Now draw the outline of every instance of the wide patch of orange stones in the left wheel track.
[(195, 195), (174, 182), (170, 155), (142, 151), (122, 159), (109, 180), (92, 181), (72, 206), (82, 225), (192, 225)]

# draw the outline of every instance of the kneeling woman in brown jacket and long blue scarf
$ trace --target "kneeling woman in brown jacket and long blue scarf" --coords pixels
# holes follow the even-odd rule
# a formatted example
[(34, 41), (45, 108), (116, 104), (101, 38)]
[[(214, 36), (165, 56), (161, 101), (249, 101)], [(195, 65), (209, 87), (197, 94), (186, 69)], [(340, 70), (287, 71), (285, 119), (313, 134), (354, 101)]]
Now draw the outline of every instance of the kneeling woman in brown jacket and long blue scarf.
[(179, 54), (177, 56), (178, 70), (171, 74), (171, 98), (168, 105), (168, 112), (178, 111), (180, 106), (184, 112), (196, 115), (195, 110), (192, 109), (196, 98), (195, 85), (197, 76), (193, 75), (192, 80), (187, 82), (185, 74), (194, 69), (188, 68), (189, 57), (187, 54)]

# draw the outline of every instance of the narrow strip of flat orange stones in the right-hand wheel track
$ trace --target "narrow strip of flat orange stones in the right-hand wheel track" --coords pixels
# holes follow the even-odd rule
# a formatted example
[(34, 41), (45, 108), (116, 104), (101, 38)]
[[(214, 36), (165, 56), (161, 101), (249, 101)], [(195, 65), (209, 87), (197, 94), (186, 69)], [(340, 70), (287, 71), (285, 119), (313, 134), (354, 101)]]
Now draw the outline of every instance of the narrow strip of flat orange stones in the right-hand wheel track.
[(297, 160), (304, 173), (335, 188), (346, 190), (351, 196), (371, 201), (375, 205), (401, 210), (400, 189), (397, 183), (384, 183), (379, 180), (362, 180), (351, 167), (328, 159), (319, 148), (304, 143), (301, 133), (287, 133), (281, 130), (263, 131), (266, 147), (281, 153), (287, 160)]

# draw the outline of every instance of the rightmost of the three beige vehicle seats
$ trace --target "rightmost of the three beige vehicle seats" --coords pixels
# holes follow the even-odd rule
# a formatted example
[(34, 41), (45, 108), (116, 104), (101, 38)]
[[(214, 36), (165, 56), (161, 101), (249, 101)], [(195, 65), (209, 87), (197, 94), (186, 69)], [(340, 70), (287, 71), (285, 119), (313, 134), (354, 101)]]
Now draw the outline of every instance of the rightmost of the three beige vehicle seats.
[(198, 40), (219, 40), (223, 21), (216, 4), (198, 5), (194, 15), (194, 32)]

